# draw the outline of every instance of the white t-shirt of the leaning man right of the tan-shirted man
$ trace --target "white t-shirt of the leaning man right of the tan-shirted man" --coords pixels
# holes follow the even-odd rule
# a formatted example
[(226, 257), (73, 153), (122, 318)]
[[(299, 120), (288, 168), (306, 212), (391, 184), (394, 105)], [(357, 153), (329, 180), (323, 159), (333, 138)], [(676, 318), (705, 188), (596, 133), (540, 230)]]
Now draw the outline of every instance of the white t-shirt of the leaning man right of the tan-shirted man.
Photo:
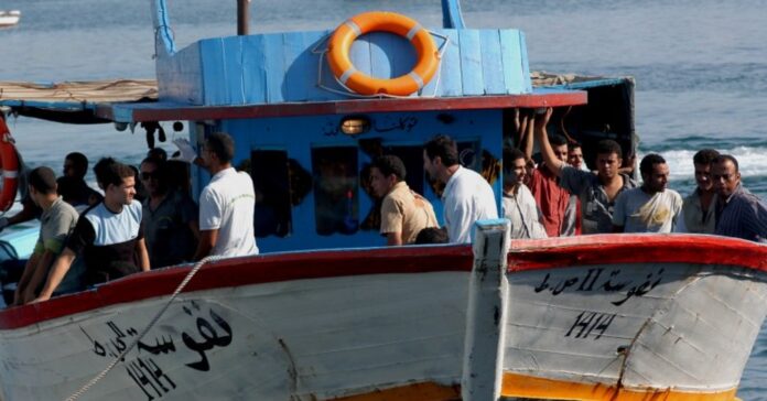
[(498, 206), (490, 184), (473, 170), (458, 166), (442, 194), (447, 237), (451, 242), (472, 241), (477, 220), (498, 218)]

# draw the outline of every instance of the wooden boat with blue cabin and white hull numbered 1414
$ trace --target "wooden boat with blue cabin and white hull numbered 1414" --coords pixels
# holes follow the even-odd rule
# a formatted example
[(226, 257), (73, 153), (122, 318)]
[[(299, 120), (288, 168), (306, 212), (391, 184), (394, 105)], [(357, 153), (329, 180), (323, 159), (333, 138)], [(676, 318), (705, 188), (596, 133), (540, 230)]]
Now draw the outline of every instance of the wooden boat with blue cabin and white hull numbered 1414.
[[(465, 29), (446, 2), (449, 28), (434, 30), (439, 82), (360, 97), (317, 51), (330, 31), (176, 51), (165, 2), (151, 4), (159, 100), (78, 101), (78, 122), (185, 120), (195, 144), (229, 132), (235, 164), (262, 195), (264, 253), (0, 312), (0, 399), (735, 398), (767, 312), (766, 247), (677, 235), (509, 243), (507, 224), (494, 220), (478, 225), (473, 248), (381, 248), (366, 218), (375, 201), (361, 171), (381, 152), (399, 155), (409, 186), (442, 209), (421, 161), (435, 132), (455, 138), (464, 165), (499, 196), (516, 108), (562, 107), (555, 119), (571, 134), (633, 149), (630, 79), (533, 89), (523, 34)], [(357, 40), (357, 68), (406, 74), (415, 56), (390, 36)], [(623, 112), (590, 109), (599, 104)], [(0, 105), (52, 119), (73, 111), (55, 99)], [(207, 180), (194, 171), (195, 193)]]

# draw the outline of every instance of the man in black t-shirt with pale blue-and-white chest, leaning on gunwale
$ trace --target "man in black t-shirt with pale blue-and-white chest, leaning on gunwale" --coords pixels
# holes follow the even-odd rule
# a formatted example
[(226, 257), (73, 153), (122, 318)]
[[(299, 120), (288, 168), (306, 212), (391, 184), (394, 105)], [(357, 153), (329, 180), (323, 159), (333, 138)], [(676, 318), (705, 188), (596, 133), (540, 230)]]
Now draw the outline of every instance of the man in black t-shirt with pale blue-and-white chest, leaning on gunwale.
[(53, 295), (77, 254), (85, 260), (87, 284), (149, 270), (149, 254), (141, 229), (141, 203), (133, 199), (133, 171), (111, 158), (104, 158), (96, 163), (94, 172), (104, 189), (104, 201), (80, 215), (34, 302)]

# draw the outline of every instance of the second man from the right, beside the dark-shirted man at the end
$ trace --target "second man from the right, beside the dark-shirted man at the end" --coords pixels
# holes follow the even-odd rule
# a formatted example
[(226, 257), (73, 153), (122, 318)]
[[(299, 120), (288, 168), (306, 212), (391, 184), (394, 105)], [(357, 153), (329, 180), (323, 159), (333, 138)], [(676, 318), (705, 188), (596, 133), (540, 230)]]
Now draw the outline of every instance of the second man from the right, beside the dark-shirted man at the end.
[(698, 187), (684, 198), (678, 231), (714, 234), (716, 230), (716, 192), (711, 180), (711, 164), (717, 156), (719, 152), (713, 149), (701, 149), (692, 156)]

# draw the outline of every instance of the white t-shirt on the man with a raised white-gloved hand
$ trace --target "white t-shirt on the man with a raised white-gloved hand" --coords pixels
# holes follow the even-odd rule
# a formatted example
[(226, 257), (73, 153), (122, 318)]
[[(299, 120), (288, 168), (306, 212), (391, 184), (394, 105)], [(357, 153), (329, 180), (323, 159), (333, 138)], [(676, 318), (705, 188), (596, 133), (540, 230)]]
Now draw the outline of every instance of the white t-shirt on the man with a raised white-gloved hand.
[(210, 254), (257, 254), (253, 234), (256, 195), (250, 175), (229, 167), (216, 173), (199, 195), (199, 230), (218, 230)]

